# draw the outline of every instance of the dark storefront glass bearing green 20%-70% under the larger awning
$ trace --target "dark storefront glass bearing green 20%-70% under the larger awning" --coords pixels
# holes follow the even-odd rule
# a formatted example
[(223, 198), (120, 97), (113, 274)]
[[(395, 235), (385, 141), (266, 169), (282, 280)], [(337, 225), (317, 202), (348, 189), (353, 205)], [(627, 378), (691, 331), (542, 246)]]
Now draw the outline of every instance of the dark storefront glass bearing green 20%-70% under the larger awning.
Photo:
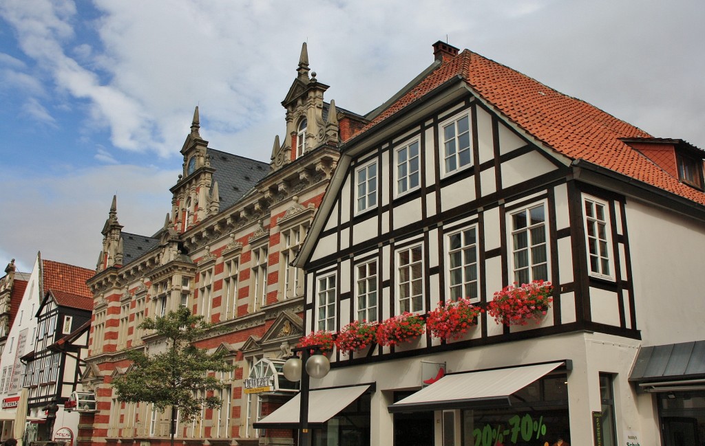
[(570, 442), (568, 378), (544, 376), (511, 395), (511, 407), (462, 410), (463, 446), (535, 446)]

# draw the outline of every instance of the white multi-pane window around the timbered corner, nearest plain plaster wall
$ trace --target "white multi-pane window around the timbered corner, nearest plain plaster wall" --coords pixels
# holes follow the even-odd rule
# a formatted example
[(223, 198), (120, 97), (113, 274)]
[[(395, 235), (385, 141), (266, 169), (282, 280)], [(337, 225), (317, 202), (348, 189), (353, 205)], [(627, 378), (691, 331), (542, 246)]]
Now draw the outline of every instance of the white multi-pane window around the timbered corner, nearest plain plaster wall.
[(583, 197), (585, 209), (585, 235), (590, 274), (612, 276), (608, 237), (608, 206), (594, 198)]

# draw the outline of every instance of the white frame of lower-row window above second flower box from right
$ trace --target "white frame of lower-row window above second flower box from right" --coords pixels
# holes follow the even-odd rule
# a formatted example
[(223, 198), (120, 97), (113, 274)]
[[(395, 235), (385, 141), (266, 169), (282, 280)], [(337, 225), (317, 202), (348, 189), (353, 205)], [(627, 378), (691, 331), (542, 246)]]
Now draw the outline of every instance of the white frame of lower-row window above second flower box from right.
[[(467, 245), (465, 244), (465, 233), (467, 231), (474, 231), (475, 243), (470, 243)], [(461, 238), (460, 246), (458, 248), (453, 248), (453, 246), (451, 246), (451, 238), (453, 238), (454, 236), (460, 236)], [(448, 264), (446, 265), (446, 283), (448, 284), (447, 300), (458, 300), (458, 298), (470, 298), (471, 302), (479, 302), (479, 238), (480, 236), (477, 224), (472, 224), (470, 226), (463, 227), (457, 230), (448, 231), (448, 234), (446, 235), (446, 261), (448, 262)], [(474, 248), (475, 252), (474, 262), (466, 263), (465, 252), (472, 248)], [(458, 253), (460, 255), (460, 265), (455, 265), (455, 267), (453, 267), (453, 261), (451, 260), (451, 257), (455, 255), (455, 253)], [(467, 277), (466, 269), (471, 265), (474, 265), (475, 267), (474, 279), (468, 279)], [(460, 273), (460, 283), (453, 284), (453, 272), (455, 270), (458, 270), (458, 272)], [(472, 283), (474, 283), (474, 297), (472, 297), (471, 295), (467, 295), (467, 286), (470, 286)], [(462, 288), (462, 295), (460, 296), (456, 296), (455, 293), (453, 293), (453, 288), (457, 288), (458, 286)]]

